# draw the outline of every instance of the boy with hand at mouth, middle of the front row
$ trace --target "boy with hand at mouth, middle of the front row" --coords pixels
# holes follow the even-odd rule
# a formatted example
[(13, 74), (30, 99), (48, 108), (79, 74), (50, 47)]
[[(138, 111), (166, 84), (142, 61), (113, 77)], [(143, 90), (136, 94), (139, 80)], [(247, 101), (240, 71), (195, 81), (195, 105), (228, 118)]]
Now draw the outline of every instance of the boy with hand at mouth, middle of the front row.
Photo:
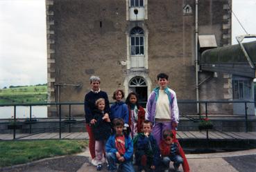
[(144, 133), (139, 133), (133, 140), (136, 164), (139, 166), (139, 171), (145, 171), (147, 166), (155, 170), (160, 160), (160, 152), (155, 138), (151, 135), (152, 123), (148, 120), (144, 121), (142, 131)]

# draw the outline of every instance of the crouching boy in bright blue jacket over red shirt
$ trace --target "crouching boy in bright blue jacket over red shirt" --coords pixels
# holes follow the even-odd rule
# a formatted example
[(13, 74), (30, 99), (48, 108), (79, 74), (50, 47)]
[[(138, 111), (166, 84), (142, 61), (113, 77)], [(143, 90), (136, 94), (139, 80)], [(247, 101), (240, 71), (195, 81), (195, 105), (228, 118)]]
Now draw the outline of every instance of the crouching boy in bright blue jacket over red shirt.
[(114, 135), (111, 135), (105, 144), (106, 157), (108, 160), (108, 170), (117, 171), (117, 163), (119, 163), (119, 171), (135, 172), (133, 169), (133, 142), (128, 135), (123, 134), (124, 122), (121, 118), (113, 121)]

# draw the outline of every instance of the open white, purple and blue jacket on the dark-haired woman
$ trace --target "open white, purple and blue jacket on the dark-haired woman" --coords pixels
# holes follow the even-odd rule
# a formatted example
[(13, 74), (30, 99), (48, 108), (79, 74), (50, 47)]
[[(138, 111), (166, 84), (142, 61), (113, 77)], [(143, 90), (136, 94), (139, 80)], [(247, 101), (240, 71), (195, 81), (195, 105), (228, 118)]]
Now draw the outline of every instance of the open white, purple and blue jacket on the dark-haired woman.
[[(157, 98), (159, 95), (159, 90), (160, 88), (157, 87), (153, 89), (151, 95), (148, 97), (148, 102), (146, 103), (146, 115), (145, 119), (149, 120), (155, 124), (155, 106), (157, 103)], [(171, 90), (170, 88), (165, 88), (164, 92), (167, 93), (168, 98), (169, 98), (169, 106), (171, 110), (171, 121), (176, 122), (178, 124), (179, 121), (179, 110), (178, 110), (178, 103), (177, 103), (177, 98), (176, 98), (176, 93)]]

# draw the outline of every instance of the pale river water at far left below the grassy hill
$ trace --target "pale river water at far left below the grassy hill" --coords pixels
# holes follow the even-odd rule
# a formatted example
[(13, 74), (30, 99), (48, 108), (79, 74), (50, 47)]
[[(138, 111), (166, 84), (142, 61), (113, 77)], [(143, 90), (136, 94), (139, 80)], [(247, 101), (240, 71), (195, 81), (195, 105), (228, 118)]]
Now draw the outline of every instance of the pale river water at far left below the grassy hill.
[[(29, 106), (16, 106), (16, 118), (27, 118), (29, 117)], [(47, 106), (32, 106), (32, 117), (47, 117)], [(14, 107), (3, 106), (0, 107), (0, 119), (13, 118)]]

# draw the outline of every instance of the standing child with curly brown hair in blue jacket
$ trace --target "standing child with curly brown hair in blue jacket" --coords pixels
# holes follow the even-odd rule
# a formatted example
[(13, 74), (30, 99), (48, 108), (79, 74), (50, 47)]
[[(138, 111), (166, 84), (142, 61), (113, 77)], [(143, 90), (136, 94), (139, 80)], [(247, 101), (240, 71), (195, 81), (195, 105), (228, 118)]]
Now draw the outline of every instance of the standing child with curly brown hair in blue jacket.
[(114, 120), (115, 118), (121, 118), (124, 121), (124, 130), (128, 128), (129, 122), (129, 111), (128, 106), (121, 101), (123, 99), (124, 93), (123, 90), (116, 90), (113, 94), (113, 99), (117, 102), (114, 102), (110, 108), (110, 120)]

